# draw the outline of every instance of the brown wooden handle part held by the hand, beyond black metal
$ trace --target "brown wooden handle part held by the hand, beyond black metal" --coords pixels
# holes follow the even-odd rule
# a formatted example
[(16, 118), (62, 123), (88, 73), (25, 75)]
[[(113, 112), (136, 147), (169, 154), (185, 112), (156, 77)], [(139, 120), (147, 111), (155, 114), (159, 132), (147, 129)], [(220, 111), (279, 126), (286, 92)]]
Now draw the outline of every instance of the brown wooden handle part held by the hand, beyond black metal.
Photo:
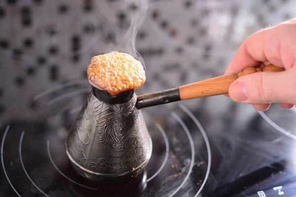
[(214, 77), (204, 81), (198, 81), (195, 83), (187, 84), (179, 87), (181, 100), (197, 99), (203, 97), (211, 97), (217, 95), (226, 95), (230, 85), (238, 78), (254, 72), (270, 71), (279, 72), (284, 71), (284, 68), (280, 68), (274, 65), (265, 66), (263, 69), (259, 67), (246, 67), (238, 74), (229, 74)]

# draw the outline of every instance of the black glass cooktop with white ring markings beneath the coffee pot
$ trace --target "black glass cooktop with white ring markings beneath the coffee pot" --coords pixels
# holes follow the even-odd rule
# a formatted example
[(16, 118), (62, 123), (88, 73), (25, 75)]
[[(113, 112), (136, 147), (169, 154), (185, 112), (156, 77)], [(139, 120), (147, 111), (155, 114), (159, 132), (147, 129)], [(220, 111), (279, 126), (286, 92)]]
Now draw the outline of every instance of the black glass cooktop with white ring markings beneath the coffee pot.
[[(124, 183), (91, 182), (70, 166), (65, 138), (79, 108), (58, 110), (44, 122), (7, 123), (0, 130), (0, 196), (296, 196), (296, 137), (272, 120), (277, 106), (269, 114), (257, 113), (240, 129), (222, 117), (217, 130), (205, 111), (175, 105), (176, 110), (160, 118), (143, 109), (152, 157), (142, 174)], [(295, 120), (296, 114), (289, 113), (287, 121)]]

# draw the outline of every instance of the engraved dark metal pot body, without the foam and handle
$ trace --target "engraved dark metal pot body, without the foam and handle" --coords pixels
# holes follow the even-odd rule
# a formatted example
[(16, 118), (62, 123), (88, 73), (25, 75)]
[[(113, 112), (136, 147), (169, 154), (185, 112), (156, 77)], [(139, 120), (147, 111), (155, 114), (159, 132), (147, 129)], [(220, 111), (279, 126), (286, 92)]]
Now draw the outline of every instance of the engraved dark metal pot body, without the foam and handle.
[(74, 169), (100, 181), (137, 176), (148, 164), (152, 141), (135, 91), (117, 96), (92, 87), (66, 141)]

